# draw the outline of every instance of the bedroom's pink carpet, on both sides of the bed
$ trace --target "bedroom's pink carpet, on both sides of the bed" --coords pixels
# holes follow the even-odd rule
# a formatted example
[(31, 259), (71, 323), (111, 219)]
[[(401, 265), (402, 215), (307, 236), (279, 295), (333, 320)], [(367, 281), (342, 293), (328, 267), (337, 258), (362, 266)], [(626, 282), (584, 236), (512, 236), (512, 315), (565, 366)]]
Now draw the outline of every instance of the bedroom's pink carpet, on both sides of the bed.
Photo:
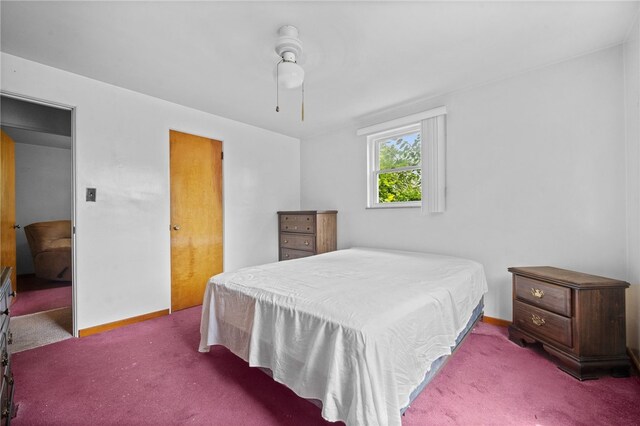
[[(224, 348), (197, 352), (200, 309), (15, 354), (15, 425), (326, 425)], [(638, 377), (579, 382), (480, 324), (406, 425), (640, 424)]]

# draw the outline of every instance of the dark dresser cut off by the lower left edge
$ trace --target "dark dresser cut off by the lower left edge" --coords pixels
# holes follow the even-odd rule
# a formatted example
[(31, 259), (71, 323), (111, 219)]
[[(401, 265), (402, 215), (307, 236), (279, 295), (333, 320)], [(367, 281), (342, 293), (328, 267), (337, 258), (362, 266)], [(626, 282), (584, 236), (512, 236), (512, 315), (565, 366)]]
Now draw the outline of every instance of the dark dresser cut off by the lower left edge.
[(15, 293), (11, 290), (11, 268), (2, 268), (0, 286), (0, 369), (2, 370), (2, 390), (0, 393), (1, 423), (8, 425), (15, 413), (13, 404), (13, 373), (11, 372), (11, 355), (7, 347), (11, 343), (9, 330), (9, 306)]

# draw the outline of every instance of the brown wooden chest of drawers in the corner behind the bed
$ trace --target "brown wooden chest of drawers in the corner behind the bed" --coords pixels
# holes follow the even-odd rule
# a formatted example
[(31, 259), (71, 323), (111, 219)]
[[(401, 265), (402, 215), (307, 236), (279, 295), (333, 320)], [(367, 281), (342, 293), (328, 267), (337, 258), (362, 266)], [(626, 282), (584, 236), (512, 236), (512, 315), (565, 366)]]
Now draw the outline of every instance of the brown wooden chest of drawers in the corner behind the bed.
[(280, 260), (336, 250), (337, 214), (335, 210), (278, 212)]

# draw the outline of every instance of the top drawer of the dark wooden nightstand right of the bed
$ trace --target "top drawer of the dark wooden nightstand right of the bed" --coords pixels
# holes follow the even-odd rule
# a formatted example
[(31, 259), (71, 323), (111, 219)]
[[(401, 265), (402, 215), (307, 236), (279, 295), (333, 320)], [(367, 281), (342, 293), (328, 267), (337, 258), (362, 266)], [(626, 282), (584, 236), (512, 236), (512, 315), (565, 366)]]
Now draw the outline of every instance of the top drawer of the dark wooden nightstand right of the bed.
[(571, 316), (571, 289), (516, 275), (516, 297), (539, 308)]

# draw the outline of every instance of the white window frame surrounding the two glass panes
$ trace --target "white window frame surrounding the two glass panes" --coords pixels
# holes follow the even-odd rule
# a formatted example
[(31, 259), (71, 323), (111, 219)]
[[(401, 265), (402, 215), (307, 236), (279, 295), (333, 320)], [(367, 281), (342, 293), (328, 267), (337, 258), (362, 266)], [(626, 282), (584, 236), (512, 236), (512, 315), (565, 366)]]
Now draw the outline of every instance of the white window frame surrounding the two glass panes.
[[(392, 201), (388, 203), (380, 203), (378, 201), (378, 176), (380, 170), (380, 144), (389, 139), (400, 137), (409, 133), (419, 133), (421, 143), (422, 138), (421, 122), (414, 122), (400, 127), (395, 127), (382, 132), (367, 135), (367, 208), (368, 209), (389, 209), (404, 207), (421, 207), (422, 200), (418, 201)], [(424, 179), (423, 173), (424, 161), (422, 158), (422, 150), (420, 153), (420, 164), (418, 166), (400, 167), (396, 169), (385, 169), (384, 173), (403, 172), (408, 170), (420, 170), (421, 179)], [(421, 198), (424, 197), (423, 188), (420, 188)]]

